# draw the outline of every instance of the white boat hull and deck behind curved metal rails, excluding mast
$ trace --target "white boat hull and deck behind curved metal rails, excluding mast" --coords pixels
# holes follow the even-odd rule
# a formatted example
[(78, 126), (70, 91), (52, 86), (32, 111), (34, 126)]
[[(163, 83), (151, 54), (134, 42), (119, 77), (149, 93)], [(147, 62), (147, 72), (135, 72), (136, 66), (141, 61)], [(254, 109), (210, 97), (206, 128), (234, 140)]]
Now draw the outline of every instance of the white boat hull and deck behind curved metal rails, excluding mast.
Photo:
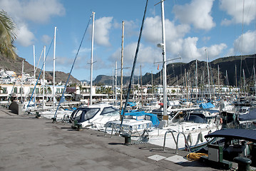
[(203, 114), (183, 115), (179, 112), (167, 124), (160, 121), (159, 127), (148, 131), (146, 136), (154, 145), (196, 151), (207, 144), (204, 136), (220, 127), (219, 122), (209, 123)]

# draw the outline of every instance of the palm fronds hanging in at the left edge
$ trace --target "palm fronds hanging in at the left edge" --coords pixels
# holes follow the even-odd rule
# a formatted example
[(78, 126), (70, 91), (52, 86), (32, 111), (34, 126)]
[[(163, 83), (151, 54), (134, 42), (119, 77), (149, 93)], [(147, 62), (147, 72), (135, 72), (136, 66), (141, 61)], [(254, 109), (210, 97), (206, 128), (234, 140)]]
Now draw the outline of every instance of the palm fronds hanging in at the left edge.
[(0, 53), (8, 58), (16, 58), (14, 30), (15, 26), (11, 17), (7, 15), (6, 11), (0, 11)]

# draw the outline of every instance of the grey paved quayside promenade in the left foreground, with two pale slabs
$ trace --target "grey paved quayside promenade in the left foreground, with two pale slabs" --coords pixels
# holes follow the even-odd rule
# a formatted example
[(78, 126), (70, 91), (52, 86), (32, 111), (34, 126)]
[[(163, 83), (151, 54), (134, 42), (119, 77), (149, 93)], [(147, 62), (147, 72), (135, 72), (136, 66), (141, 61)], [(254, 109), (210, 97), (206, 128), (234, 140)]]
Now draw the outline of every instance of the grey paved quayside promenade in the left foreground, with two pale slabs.
[(68, 123), (16, 115), (0, 107), (0, 170), (221, 170), (185, 160), (188, 152), (148, 143), (123, 145), (124, 138)]

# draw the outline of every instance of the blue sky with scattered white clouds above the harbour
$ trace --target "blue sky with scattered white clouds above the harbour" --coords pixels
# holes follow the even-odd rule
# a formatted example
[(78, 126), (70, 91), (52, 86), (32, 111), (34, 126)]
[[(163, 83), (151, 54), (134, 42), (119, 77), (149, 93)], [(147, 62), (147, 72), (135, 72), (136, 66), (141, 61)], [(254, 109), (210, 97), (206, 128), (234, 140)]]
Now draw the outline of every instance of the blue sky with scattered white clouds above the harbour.
[[(163, 61), (160, 0), (149, 0), (135, 75), (158, 73)], [(0, 0), (16, 24), (16, 53), (36, 66), (53, 71), (53, 36), (56, 31), (56, 71), (69, 73), (81, 44), (72, 76), (91, 78), (91, 14), (95, 14), (93, 79), (98, 75), (120, 76), (122, 21), (124, 21), (123, 74), (130, 76), (137, 47), (145, 0)], [(156, 5), (155, 5), (156, 4)], [(255, 0), (165, 0), (165, 40), (168, 63), (209, 61), (256, 53)], [(90, 21), (90, 22), (89, 22)], [(206, 51), (205, 51), (206, 50)], [(40, 59), (40, 61), (39, 61)], [(116, 70), (116, 62), (117, 68)], [(37, 64), (38, 63), (38, 64)], [(162, 63), (160, 63), (162, 68)], [(24, 68), (26, 73), (26, 68)]]

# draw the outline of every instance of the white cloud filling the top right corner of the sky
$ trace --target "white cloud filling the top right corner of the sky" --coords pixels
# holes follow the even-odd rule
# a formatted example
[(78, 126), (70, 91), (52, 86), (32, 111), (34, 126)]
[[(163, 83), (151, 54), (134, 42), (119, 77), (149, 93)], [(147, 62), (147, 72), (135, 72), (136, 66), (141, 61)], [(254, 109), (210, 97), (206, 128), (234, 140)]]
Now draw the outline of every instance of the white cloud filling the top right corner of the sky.
[(242, 24), (242, 11), (244, 11), (244, 24), (250, 24), (256, 19), (255, 6), (255, 0), (245, 1), (245, 5), (240, 0), (220, 0), (220, 9), (231, 17), (231, 19), (223, 19), (222, 25)]

